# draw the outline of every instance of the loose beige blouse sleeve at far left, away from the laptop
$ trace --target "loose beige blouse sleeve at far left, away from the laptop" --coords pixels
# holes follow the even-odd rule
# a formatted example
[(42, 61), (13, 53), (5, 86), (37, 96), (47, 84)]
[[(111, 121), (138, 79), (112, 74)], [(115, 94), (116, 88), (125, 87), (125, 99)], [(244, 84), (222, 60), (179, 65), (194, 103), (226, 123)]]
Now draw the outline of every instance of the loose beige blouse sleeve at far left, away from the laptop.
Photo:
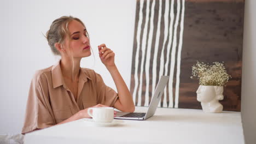
[[(46, 81), (46, 80), (45, 80)], [(22, 134), (43, 129), (55, 124), (49, 103), (48, 86), (42, 76), (36, 74), (30, 86)]]

